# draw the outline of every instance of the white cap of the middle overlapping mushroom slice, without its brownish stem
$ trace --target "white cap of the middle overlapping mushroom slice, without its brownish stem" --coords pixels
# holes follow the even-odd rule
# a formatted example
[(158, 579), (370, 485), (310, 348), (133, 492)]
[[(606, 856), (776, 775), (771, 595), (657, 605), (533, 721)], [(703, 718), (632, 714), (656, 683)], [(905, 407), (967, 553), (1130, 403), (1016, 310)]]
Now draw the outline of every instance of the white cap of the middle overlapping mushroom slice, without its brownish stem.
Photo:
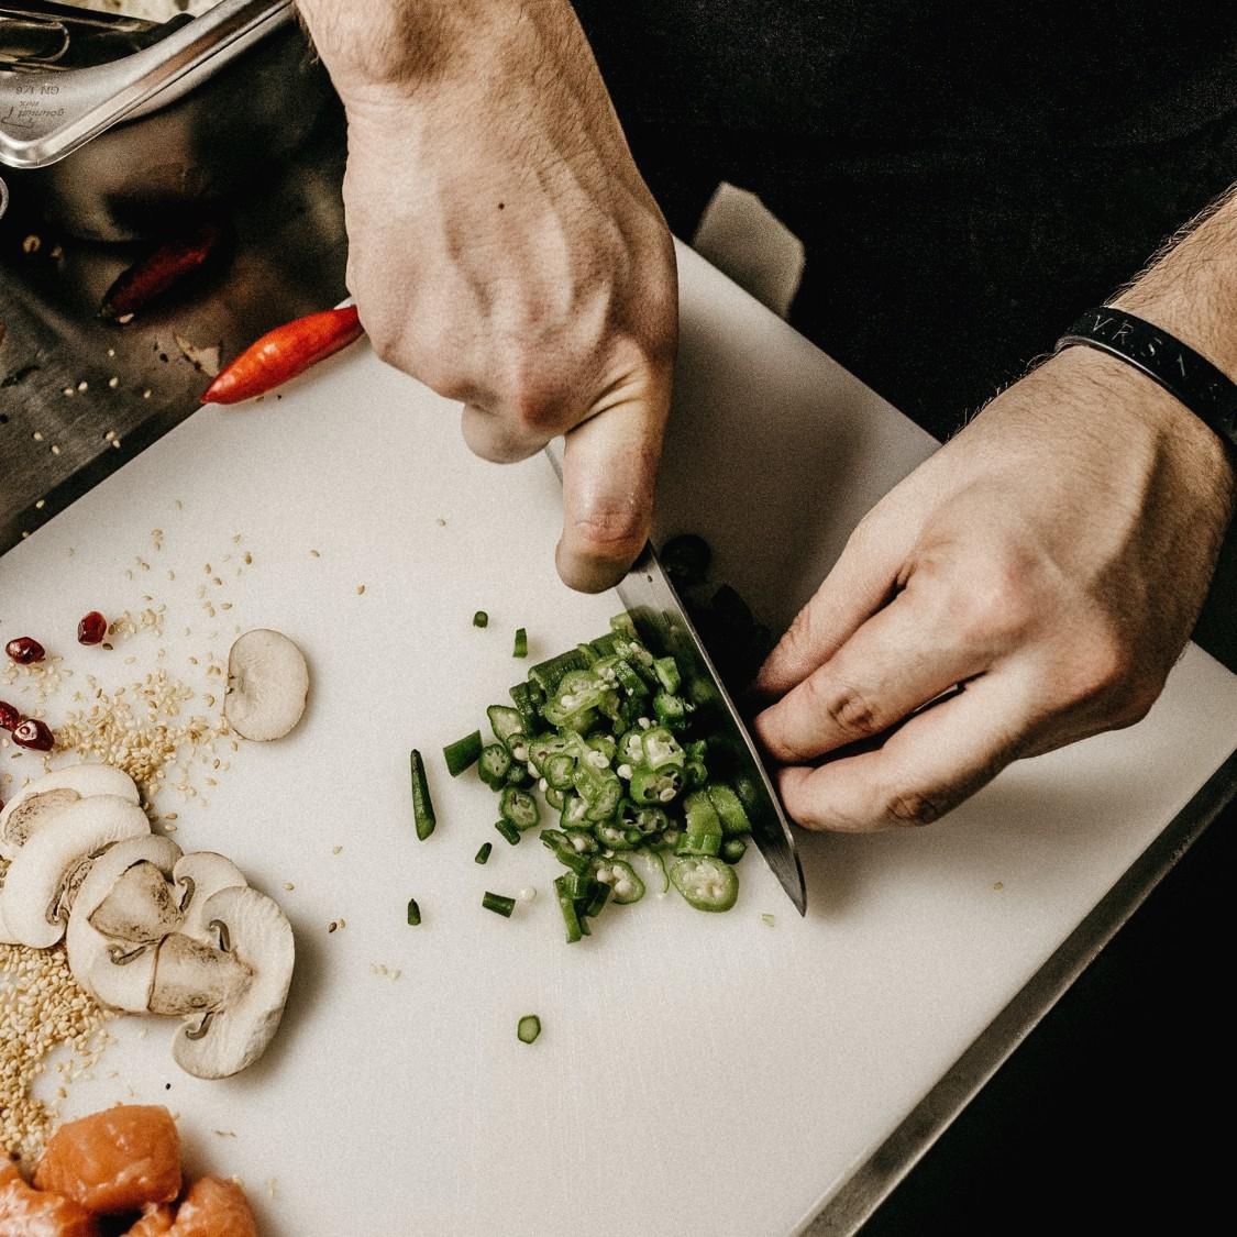
[[(109, 846), (90, 866), (90, 872), (73, 903), (66, 931), (69, 970), (73, 977), (100, 1004), (130, 1013), (145, 1013), (155, 983), (155, 945), (106, 936), (90, 922), (120, 878), (139, 863), (153, 863), (169, 880), (181, 857), (181, 847), (157, 834), (129, 837)], [(169, 931), (174, 929), (168, 929)], [(119, 948), (132, 956), (115, 962), (111, 950)]]

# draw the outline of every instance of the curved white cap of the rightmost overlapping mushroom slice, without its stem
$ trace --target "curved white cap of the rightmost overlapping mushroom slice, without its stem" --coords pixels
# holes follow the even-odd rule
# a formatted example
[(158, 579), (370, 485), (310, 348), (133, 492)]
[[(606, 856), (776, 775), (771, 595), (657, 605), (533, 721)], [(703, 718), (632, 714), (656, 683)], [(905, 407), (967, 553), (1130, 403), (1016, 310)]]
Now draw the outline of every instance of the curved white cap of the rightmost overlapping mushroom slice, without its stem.
[(220, 1079), (257, 1060), (271, 1042), (288, 997), (296, 946), (287, 917), (257, 889), (220, 889), (203, 914), (208, 923), (228, 925), (229, 945), (254, 977), (239, 1001), (215, 1011), (200, 1038), (189, 1039), (190, 1028), (182, 1027), (172, 1056), (194, 1077)]

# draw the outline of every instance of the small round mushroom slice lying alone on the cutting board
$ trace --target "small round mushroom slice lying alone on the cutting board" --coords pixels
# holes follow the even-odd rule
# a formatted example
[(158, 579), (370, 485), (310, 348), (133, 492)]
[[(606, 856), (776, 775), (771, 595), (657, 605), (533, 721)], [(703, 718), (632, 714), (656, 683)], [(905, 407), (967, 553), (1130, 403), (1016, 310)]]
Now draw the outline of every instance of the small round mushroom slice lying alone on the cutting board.
[(309, 691), (304, 654), (282, 632), (259, 627), (228, 653), (224, 716), (242, 738), (282, 738), (301, 720)]

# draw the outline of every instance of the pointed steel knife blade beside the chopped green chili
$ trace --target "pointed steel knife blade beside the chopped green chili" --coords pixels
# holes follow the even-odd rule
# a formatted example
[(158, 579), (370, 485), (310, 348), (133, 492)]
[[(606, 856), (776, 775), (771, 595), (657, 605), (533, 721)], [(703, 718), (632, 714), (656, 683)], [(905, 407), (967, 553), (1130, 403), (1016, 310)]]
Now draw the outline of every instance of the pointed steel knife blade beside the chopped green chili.
[[(560, 439), (554, 439), (546, 448), (559, 481), (563, 480), (562, 453)], [(795, 909), (800, 915), (807, 914), (808, 891), (803, 866), (785, 813), (752, 736), (651, 543), (646, 542), (640, 558), (616, 589), (644, 643), (658, 653), (673, 654), (678, 662), (684, 684), (682, 694), (695, 705), (709, 741), (710, 767), (715, 758), (720, 758), (719, 771), (734, 785), (747, 809), (752, 839)]]

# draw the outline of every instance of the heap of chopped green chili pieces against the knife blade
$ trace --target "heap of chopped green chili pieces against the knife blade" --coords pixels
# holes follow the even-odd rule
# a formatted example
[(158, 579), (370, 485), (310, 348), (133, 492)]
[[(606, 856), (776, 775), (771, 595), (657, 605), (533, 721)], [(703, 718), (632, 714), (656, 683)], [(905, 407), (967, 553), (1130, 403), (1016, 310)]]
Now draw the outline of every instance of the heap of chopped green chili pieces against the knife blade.
[[(717, 609), (743, 618), (725, 590)], [(523, 628), (518, 638), (524, 656)], [(497, 742), (480, 750), (479, 772), (501, 797), (495, 828), (516, 845), (543, 819), (541, 797), (557, 814), (558, 828), (539, 836), (567, 868), (554, 889), (569, 943), (589, 935), (607, 901), (637, 902), (646, 887), (664, 893), (673, 882), (701, 910), (729, 910), (737, 897), (731, 862), (748, 847), (751, 821), (740, 793), (714, 779), (715, 701), (708, 683), (658, 652), (620, 615), (606, 635), (533, 666), (511, 688), (515, 708), (487, 710)], [(513, 899), (487, 893), (484, 904), (510, 914)]]

